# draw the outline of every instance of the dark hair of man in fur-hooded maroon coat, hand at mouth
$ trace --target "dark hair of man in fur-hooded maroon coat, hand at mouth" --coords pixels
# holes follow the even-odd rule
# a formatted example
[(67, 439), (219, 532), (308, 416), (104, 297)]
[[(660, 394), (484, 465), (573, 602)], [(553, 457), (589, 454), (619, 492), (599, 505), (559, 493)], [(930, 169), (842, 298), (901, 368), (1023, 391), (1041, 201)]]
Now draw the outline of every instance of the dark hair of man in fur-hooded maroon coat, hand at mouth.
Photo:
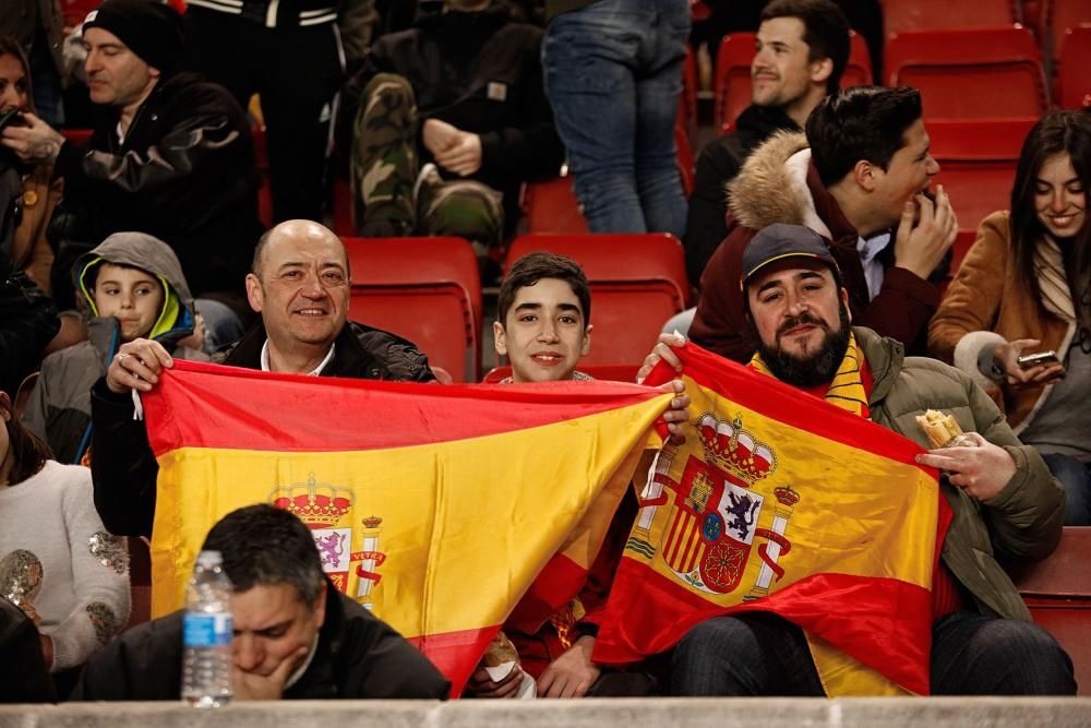
[(807, 117), (811, 160), (822, 183), (840, 182), (861, 159), (887, 169), (921, 114), (915, 88), (855, 86), (822, 99)]

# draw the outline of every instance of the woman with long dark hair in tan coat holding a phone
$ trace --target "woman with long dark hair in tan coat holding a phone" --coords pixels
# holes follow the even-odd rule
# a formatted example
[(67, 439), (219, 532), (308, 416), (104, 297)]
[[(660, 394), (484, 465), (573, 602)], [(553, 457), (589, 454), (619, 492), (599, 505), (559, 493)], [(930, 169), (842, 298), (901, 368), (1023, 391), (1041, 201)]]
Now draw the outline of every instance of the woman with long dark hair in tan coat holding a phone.
[(982, 384), (1042, 453), (1067, 525), (1091, 524), (1089, 189), (1091, 114), (1047, 114), (1023, 142), (1010, 211), (982, 222), (928, 327), (933, 356)]

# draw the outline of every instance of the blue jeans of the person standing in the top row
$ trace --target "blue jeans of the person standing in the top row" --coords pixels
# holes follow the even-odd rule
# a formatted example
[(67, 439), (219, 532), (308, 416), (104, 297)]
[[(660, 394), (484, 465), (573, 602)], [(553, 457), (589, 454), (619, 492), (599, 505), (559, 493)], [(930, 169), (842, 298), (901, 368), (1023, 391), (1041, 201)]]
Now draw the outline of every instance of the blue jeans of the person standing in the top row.
[(546, 94), (592, 232), (685, 232), (674, 145), (686, 0), (598, 0), (550, 22)]

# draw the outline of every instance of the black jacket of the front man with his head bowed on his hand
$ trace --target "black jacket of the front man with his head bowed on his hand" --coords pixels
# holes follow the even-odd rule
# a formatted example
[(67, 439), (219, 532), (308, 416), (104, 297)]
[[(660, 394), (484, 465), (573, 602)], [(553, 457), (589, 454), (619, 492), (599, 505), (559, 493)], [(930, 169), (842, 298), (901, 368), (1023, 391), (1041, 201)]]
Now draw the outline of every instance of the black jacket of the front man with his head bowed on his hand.
[[(70, 700), (169, 701), (181, 697), (182, 612), (135, 626), (94, 655)], [(307, 671), (287, 700), (445, 700), (451, 683), (367, 609), (326, 588), (326, 618)]]

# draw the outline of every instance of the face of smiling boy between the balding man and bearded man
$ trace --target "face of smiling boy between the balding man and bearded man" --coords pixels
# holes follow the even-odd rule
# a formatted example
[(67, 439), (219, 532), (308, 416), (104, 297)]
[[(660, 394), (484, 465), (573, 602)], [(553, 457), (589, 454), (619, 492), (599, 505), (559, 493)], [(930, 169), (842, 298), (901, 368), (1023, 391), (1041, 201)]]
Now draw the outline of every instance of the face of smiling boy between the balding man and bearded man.
[(515, 293), (501, 325), (492, 324), (496, 354), (507, 356), (515, 382), (572, 379), (579, 358), (591, 347), (591, 327), (572, 286), (542, 278)]

